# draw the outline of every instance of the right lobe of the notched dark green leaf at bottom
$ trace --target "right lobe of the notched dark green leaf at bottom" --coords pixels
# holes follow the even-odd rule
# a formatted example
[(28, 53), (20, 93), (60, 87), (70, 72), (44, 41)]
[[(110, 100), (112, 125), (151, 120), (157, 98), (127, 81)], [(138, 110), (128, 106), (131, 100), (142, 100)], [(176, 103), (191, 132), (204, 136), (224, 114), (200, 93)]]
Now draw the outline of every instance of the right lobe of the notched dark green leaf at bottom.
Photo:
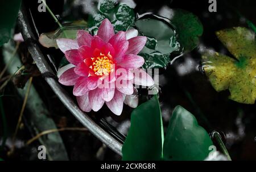
[(181, 106), (172, 113), (163, 146), (163, 160), (204, 160), (212, 140), (196, 118)]

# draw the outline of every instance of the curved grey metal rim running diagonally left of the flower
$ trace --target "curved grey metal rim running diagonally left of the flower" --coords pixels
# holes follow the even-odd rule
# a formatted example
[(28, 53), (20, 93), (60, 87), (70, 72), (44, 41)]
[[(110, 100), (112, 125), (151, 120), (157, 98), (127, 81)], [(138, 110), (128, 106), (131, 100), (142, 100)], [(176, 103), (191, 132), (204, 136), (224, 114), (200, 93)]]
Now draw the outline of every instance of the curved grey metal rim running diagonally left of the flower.
[(32, 32), (29, 20), (26, 15), (24, 4), (22, 5), (18, 14), (18, 25), (24, 41), (27, 42), (28, 50), (30, 51), (32, 58), (34, 59), (36, 66), (44, 76), (52, 90), (63, 102), (64, 106), (86, 127), (94, 136), (96, 136), (102, 143), (106, 144), (114, 152), (122, 156), (121, 149), (122, 144), (119, 143), (112, 135), (103, 130), (96, 122), (94, 122), (87, 114), (79, 109), (76, 103), (68, 96), (68, 93), (60, 86), (56, 80), (56, 75), (49, 66), (46, 58), (40, 50), (35, 36)]

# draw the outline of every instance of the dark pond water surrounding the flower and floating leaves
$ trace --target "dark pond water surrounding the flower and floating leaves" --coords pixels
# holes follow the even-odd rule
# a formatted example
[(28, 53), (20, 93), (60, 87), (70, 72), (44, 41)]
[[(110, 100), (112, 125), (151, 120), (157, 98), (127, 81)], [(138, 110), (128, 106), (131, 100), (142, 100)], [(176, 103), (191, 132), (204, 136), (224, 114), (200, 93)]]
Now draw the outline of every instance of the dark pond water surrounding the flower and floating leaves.
[[(88, 10), (90, 10), (87, 6), (89, 2), (94, 1), (76, 1), (72, 8), (64, 6), (64, 12), (62, 10), (63, 6), (60, 6), (59, 3), (55, 1), (49, 2), (49, 6), (55, 14), (59, 14), (60, 20), (71, 19), (71, 14), (75, 19), (79, 19), (82, 16), (82, 18), (86, 20), (88, 19)], [(216, 92), (201, 65), (200, 48), (207, 47), (208, 49), (232, 56), (216, 37), (216, 31), (237, 26), (247, 27), (245, 18), (239, 16), (229, 4), (237, 8), (247, 19), (256, 23), (255, 1), (217, 1), (217, 12), (208, 11), (208, 1), (166, 0), (156, 2), (137, 0), (133, 3), (135, 12), (139, 15), (145, 12), (152, 12), (152, 14), (157, 15), (163, 8), (182, 8), (193, 12), (193, 14), (200, 19), (204, 27), (204, 33), (203, 36), (200, 37), (198, 48), (184, 55), (180, 55), (182, 48), (177, 48), (177, 45), (173, 46), (172, 48), (176, 49), (176, 51), (171, 50), (171, 52), (174, 51), (170, 57), (172, 59), (171, 63), (159, 70), (158, 94), (162, 108), (164, 129), (167, 129), (168, 121), (175, 106), (181, 105), (195, 115), (200, 126), (203, 126), (209, 134), (213, 131), (219, 131), (221, 133), (222, 139), (233, 160), (256, 160), (255, 105), (240, 104), (230, 100), (228, 98), (230, 94), (229, 91)], [(51, 19), (51, 16), (48, 14), (40, 14), (36, 10), (33, 10), (33, 6), (36, 5), (36, 3), (31, 3), (30, 7), (38, 32), (44, 33), (55, 30), (57, 25)], [(136, 26), (138, 27), (139, 24), (140, 23), (137, 23)], [(171, 25), (167, 27), (170, 27), (171, 32), (175, 32), (175, 28), (172, 28)], [(162, 31), (156, 30), (155, 32)], [(150, 36), (148, 37), (150, 38)], [(165, 44), (166, 42), (164, 43), (164, 41), (166, 40), (162, 40), (162, 42), (158, 42), (158, 44)], [(156, 46), (154, 42), (154, 38), (151, 38), (151, 44), (148, 46)], [(167, 42), (167, 46), (168, 44), (169, 42)], [(56, 63), (59, 63), (60, 59), (63, 57), (59, 50), (44, 50), (47, 54), (51, 54), (55, 57)], [(161, 48), (159, 48), (159, 50), (161, 51)], [(38, 89), (42, 89), (40, 85), (36, 86)], [(67, 90), (71, 91), (72, 94), (71, 88), (67, 88)], [(40, 91), (41, 94), (43, 94), (43, 92), (44, 91)], [(139, 104), (142, 104), (150, 98), (150, 96), (147, 95), (147, 91), (143, 89), (138, 89), (138, 93)], [(60, 106), (61, 105), (58, 107)], [(122, 115), (118, 117), (104, 106), (104, 108), (97, 113), (92, 111), (88, 114), (101, 125), (108, 126), (106, 130), (110, 130), (109, 124), (111, 124), (113, 130), (110, 130), (110, 132), (115, 134), (117, 130), (125, 136), (130, 127), (130, 114), (132, 110), (132, 108), (124, 106)], [(61, 111), (62, 110), (55, 110), (55, 113)], [(118, 136), (120, 140), (124, 139), (122, 135)]]

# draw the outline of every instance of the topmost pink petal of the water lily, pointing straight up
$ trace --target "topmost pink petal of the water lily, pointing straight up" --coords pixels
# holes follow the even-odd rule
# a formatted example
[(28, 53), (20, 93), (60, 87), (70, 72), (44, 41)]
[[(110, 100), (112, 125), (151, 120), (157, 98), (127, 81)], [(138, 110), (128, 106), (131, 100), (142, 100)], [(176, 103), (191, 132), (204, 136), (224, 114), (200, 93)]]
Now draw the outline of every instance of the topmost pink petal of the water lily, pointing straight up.
[(105, 42), (109, 42), (109, 39), (114, 36), (114, 28), (109, 19), (104, 19), (98, 28), (97, 36), (101, 37)]

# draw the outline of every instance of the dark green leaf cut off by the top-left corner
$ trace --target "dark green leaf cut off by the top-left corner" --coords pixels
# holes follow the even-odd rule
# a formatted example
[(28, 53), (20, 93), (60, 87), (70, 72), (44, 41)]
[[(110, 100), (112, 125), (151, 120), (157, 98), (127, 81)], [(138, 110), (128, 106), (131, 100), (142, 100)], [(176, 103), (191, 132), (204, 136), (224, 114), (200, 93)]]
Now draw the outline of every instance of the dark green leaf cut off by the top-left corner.
[(11, 29), (15, 25), (20, 0), (0, 1), (0, 46), (11, 38)]

